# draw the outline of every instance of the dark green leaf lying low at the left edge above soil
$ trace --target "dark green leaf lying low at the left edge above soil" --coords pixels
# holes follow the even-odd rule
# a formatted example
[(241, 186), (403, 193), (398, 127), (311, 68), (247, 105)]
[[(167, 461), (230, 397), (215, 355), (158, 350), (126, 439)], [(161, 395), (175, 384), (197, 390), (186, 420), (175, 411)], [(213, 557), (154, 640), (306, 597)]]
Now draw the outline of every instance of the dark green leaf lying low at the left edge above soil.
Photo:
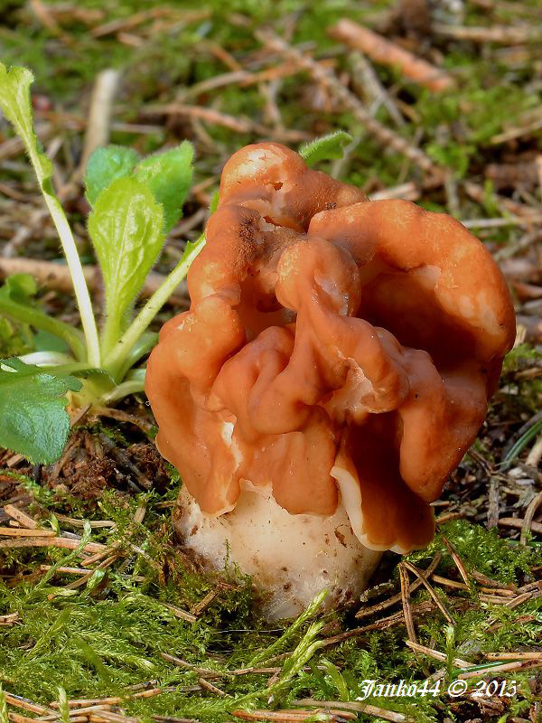
[(51, 464), (66, 444), (70, 419), (66, 394), (81, 383), (12, 357), (0, 361), (0, 446), (33, 464)]

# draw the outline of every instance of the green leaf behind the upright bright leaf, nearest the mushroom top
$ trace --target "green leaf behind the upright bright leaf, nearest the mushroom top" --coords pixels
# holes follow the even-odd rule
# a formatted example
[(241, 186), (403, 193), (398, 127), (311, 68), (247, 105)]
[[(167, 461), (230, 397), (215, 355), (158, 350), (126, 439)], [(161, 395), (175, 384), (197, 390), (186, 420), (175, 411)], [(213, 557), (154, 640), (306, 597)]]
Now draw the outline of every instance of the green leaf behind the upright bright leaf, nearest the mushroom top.
[(194, 149), (188, 141), (180, 146), (140, 161), (134, 177), (145, 183), (157, 202), (164, 206), (164, 232), (169, 233), (182, 216), (184, 203), (192, 184)]

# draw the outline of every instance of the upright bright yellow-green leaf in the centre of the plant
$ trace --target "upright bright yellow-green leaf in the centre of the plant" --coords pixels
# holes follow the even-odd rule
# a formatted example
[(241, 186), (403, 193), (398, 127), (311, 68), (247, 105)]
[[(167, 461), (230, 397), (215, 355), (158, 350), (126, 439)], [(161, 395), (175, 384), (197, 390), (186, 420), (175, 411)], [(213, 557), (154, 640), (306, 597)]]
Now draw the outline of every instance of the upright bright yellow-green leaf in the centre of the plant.
[(106, 288), (104, 351), (117, 342), (126, 312), (164, 245), (164, 211), (144, 183), (118, 178), (98, 196), (89, 233)]

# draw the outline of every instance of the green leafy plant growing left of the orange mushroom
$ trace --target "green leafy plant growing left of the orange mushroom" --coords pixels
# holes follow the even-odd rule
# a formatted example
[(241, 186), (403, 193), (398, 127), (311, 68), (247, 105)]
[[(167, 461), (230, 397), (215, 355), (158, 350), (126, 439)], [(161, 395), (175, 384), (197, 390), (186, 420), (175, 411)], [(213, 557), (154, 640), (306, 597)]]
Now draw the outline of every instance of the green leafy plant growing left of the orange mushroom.
[(156, 341), (148, 326), (186, 276), (205, 238), (187, 244), (172, 273), (135, 315), (145, 277), (181, 217), (192, 183), (193, 150), (185, 141), (142, 159), (129, 148), (98, 148), (85, 178), (89, 235), (105, 286), (105, 314), (98, 331), (78, 249), (52, 187), (51, 161), (33, 130), (32, 82), (30, 70), (7, 70), (0, 64), (0, 108), (23, 141), (61, 239), (82, 328), (38, 308), (32, 277), (10, 277), (0, 288), (0, 314), (46, 333), (49, 342), (42, 351), (0, 362), (0, 446), (35, 463), (51, 463), (61, 455), (68, 436), (69, 402), (72, 408), (107, 404), (143, 390), (145, 368), (134, 367)]

